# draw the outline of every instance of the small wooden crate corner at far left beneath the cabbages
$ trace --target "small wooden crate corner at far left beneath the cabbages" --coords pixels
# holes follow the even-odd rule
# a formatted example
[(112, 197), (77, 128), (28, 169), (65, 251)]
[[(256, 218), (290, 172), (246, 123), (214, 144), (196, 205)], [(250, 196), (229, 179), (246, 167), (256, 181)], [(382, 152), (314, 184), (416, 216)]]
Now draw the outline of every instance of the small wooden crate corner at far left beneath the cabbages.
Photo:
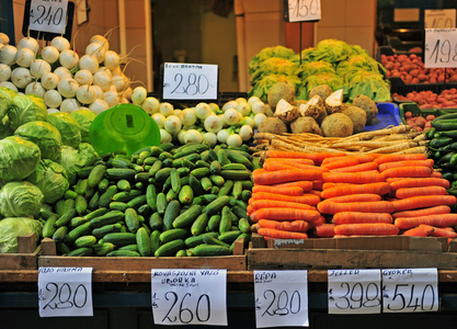
[(0, 270), (36, 270), (39, 250), (34, 232), (18, 237), (18, 253), (0, 253)]

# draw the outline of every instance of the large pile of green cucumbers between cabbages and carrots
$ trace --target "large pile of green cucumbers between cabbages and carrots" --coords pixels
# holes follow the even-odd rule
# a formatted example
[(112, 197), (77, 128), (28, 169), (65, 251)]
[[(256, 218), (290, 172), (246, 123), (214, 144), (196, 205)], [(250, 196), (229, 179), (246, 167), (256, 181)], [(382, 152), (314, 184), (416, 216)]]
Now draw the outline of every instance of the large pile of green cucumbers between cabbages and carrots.
[(69, 257), (228, 256), (249, 241), (252, 170), (248, 146), (172, 144), (84, 167), (53, 209), (43, 236)]

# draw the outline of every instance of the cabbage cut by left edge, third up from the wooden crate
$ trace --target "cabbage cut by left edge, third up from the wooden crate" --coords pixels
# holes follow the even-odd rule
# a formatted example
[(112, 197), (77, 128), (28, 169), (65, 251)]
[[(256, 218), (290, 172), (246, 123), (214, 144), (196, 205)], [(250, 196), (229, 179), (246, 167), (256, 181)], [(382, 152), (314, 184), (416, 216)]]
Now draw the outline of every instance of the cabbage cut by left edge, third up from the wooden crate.
[(39, 147), (21, 137), (0, 140), (0, 180), (23, 180), (35, 171), (41, 160)]

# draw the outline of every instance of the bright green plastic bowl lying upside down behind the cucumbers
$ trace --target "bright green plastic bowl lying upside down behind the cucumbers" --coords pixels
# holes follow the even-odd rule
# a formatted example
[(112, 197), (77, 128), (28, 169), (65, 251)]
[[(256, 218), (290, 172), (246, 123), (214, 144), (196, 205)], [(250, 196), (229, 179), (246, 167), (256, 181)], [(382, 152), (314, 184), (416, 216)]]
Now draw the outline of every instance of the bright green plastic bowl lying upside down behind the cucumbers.
[(160, 129), (145, 110), (135, 104), (119, 104), (100, 113), (89, 128), (89, 139), (100, 155), (136, 150), (160, 145)]

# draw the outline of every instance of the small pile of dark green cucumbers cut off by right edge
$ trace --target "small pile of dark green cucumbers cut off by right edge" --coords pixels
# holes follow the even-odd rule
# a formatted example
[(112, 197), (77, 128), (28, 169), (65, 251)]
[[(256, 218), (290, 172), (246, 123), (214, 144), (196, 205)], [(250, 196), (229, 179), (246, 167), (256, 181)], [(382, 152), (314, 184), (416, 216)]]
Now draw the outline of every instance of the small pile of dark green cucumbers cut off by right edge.
[(429, 157), (450, 182), (448, 193), (457, 195), (457, 113), (437, 116), (431, 124), (432, 128), (425, 132), (430, 139)]

